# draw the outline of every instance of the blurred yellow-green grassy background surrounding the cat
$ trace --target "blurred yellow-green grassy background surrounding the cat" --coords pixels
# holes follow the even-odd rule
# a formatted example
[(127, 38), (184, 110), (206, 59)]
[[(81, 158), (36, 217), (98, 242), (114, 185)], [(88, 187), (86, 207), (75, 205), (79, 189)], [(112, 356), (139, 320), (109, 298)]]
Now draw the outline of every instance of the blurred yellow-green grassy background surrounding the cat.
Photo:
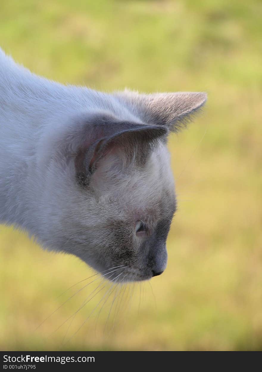
[(37, 74), (209, 97), (169, 143), (167, 270), (112, 309), (114, 294), (99, 313), (101, 292), (69, 318), (99, 281), (63, 292), (91, 270), (0, 227), (1, 350), (262, 349), (261, 20), (260, 0), (1, 0), (0, 45)]

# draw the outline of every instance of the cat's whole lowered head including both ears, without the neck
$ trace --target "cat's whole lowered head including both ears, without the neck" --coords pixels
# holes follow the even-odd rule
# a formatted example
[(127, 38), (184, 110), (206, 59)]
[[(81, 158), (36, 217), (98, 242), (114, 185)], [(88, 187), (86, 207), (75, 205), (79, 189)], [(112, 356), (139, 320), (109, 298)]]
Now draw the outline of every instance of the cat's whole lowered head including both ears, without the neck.
[(176, 211), (168, 135), (185, 126), (206, 94), (101, 97), (98, 107), (73, 114), (45, 137), (38, 237), (109, 280), (150, 279), (166, 268)]

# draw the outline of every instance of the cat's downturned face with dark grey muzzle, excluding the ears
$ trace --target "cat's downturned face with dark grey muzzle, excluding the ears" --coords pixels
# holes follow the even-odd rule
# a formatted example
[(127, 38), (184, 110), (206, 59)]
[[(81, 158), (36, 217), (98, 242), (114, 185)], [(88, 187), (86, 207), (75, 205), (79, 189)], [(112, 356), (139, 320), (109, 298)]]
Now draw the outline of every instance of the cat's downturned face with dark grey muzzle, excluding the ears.
[(112, 279), (122, 272), (119, 280), (144, 280), (164, 271), (176, 201), (163, 144), (140, 165), (123, 166), (118, 154), (108, 154), (82, 192), (92, 201), (84, 247), (93, 247), (95, 255), (83, 249), (81, 259), (100, 272), (120, 266)]

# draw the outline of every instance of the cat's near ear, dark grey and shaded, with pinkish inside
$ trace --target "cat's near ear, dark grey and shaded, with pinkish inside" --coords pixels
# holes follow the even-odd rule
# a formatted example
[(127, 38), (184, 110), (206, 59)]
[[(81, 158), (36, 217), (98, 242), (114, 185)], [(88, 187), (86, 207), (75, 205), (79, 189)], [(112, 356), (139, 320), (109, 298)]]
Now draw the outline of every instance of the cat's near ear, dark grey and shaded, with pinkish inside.
[(86, 186), (102, 158), (114, 154), (127, 165), (143, 165), (160, 141), (166, 141), (167, 129), (159, 125), (112, 121), (110, 116), (96, 118), (96, 123), (78, 148), (75, 157), (76, 178)]

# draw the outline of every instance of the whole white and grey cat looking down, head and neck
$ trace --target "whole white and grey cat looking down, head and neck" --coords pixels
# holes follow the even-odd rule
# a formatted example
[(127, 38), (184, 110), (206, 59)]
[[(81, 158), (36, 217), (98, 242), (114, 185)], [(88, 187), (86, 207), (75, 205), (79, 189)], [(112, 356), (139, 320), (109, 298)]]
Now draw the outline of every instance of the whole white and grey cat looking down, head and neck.
[(64, 86), (0, 49), (0, 222), (115, 282), (161, 274), (176, 211), (167, 139), (206, 98)]

